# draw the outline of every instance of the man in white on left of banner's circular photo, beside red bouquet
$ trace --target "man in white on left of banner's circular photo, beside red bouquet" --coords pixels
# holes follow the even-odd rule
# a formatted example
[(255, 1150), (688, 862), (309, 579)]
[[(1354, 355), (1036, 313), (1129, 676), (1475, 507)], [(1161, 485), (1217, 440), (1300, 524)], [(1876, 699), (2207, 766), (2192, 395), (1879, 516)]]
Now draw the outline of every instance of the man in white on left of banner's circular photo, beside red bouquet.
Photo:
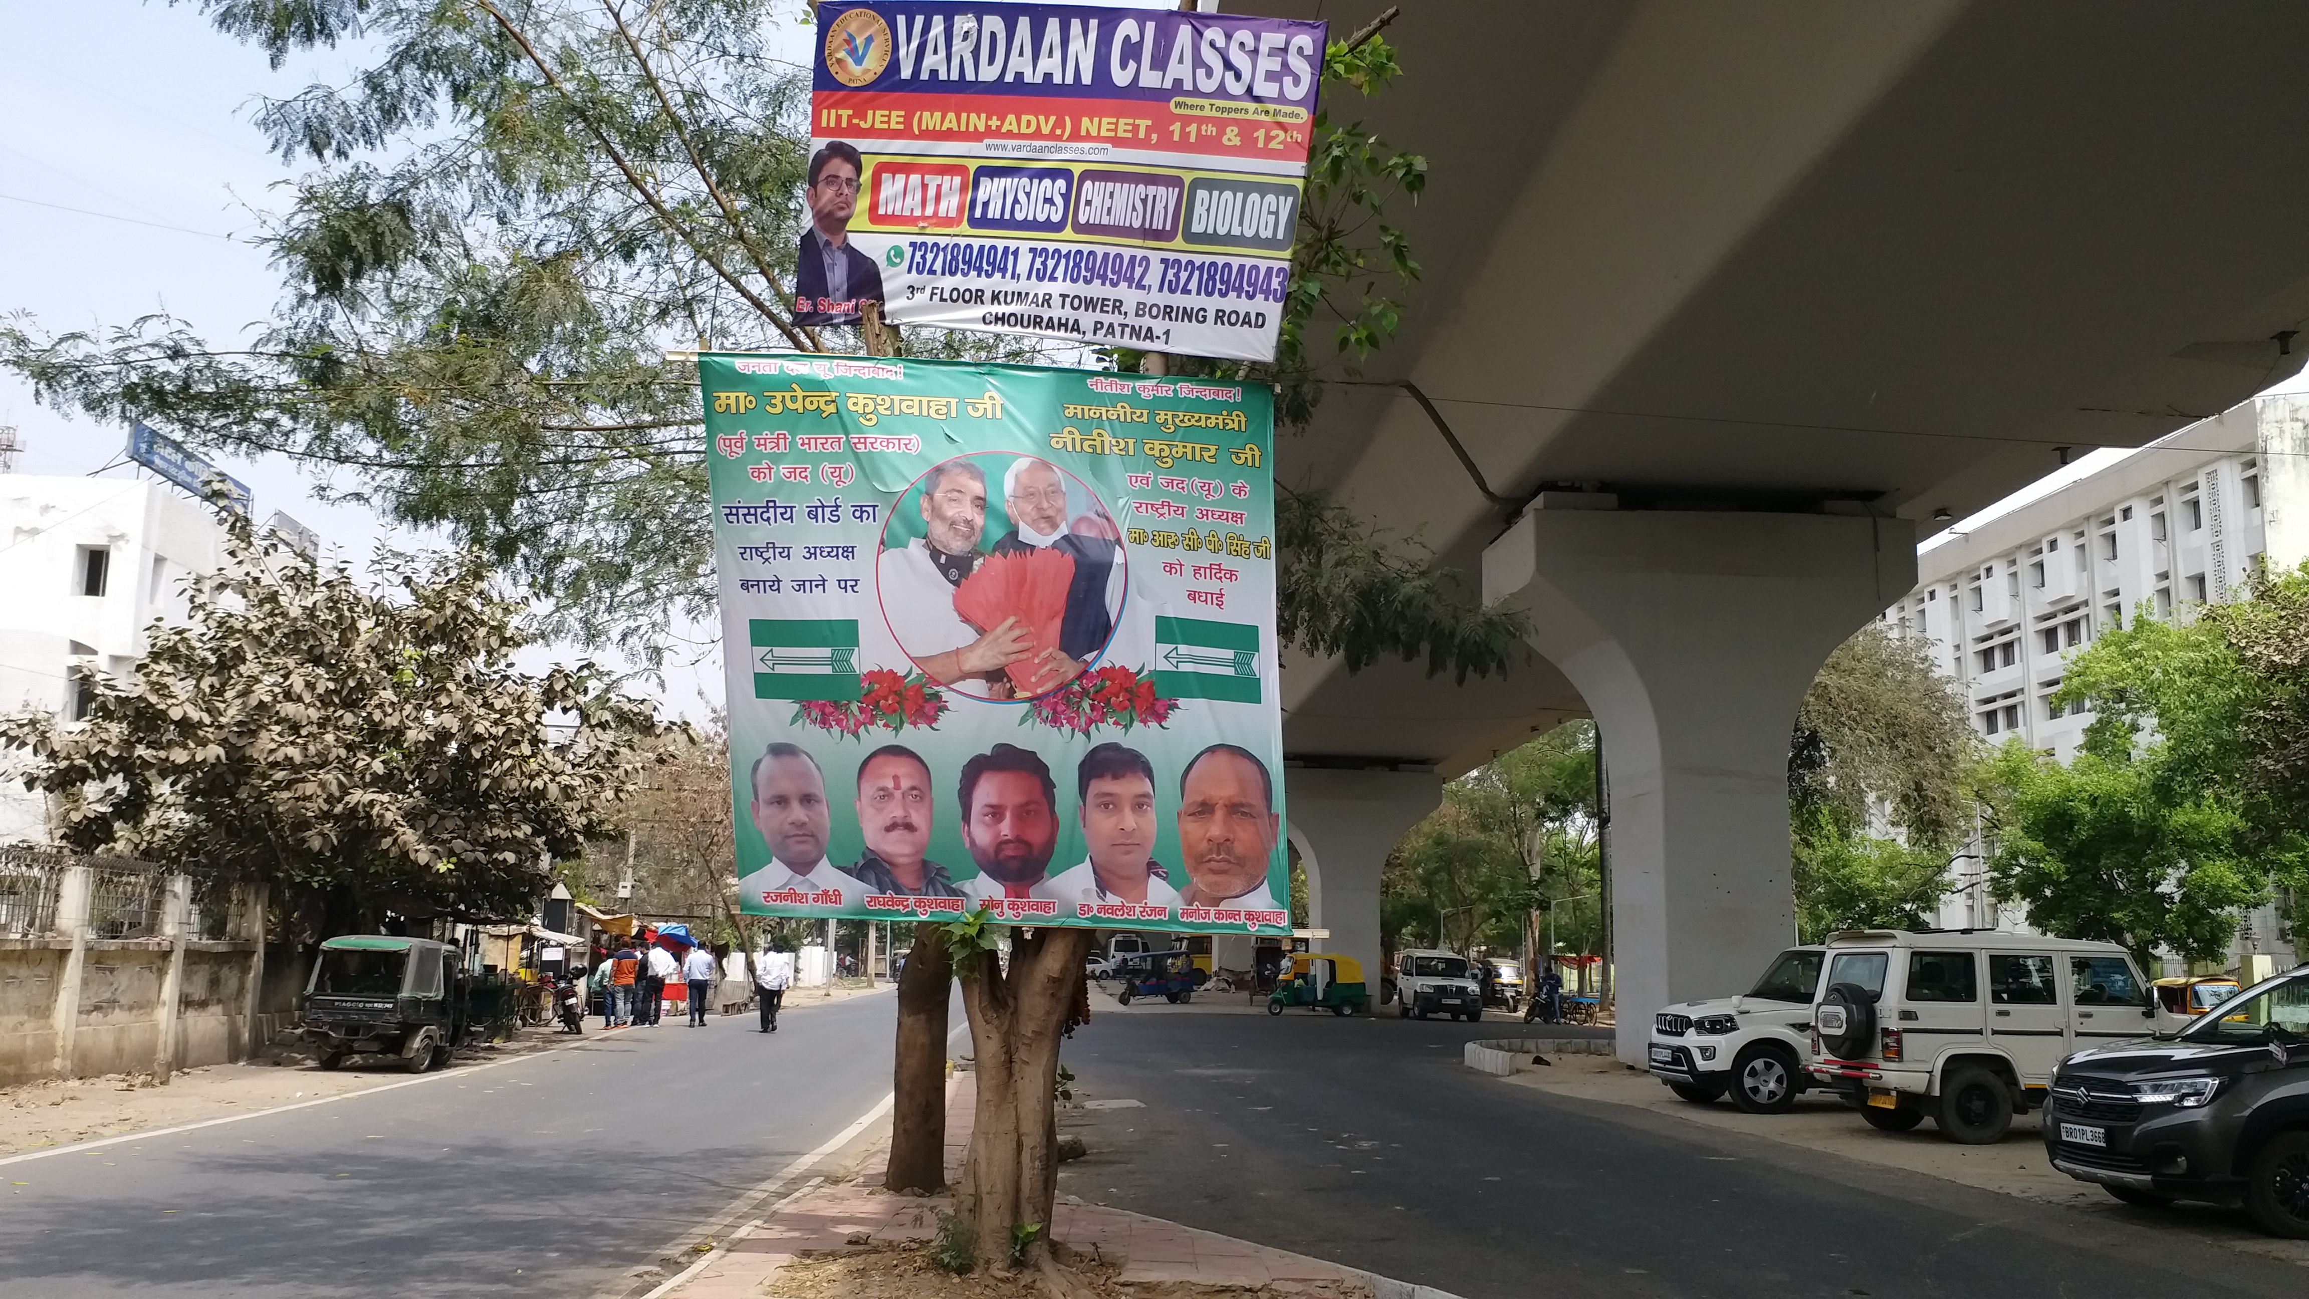
[[(954, 587), (979, 559), (986, 532), (986, 472), (970, 460), (947, 460), (921, 481), (924, 536), (882, 550), (875, 594), (898, 650), (942, 686), (995, 698), (995, 677), (1028, 659), (1032, 633), (1007, 617), (984, 633), (954, 613)], [(1048, 650), (1058, 654), (1058, 650)]]

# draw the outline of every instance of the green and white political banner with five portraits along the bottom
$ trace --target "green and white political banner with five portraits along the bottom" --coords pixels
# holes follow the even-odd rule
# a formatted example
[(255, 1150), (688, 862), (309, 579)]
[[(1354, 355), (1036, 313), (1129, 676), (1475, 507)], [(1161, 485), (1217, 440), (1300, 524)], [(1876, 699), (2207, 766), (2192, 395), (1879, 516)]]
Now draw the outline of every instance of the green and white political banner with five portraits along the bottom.
[(697, 377), (748, 913), (1288, 931), (1265, 386)]

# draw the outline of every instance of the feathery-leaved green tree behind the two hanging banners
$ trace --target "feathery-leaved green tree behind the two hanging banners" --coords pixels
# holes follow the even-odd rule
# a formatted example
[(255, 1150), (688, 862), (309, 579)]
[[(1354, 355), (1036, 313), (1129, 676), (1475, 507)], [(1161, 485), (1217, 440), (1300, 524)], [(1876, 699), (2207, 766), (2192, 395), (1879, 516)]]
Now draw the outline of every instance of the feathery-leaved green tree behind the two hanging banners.
[[(550, 633), (651, 661), (670, 619), (713, 608), (695, 374), (663, 365), (663, 349), (861, 347), (787, 310), (808, 76), (771, 55), (783, 0), (203, 9), (275, 67), (314, 49), (360, 58), (344, 86), (256, 111), (284, 159), (316, 166), (261, 240), (284, 273), (272, 324), (245, 344), (171, 319), (65, 335), (12, 324), (0, 365), (44, 402), (339, 469), (383, 515), (496, 559), (543, 601)], [(1330, 99), (1395, 74), (1376, 23), (1325, 51)], [(1286, 423), (1312, 416), (1323, 365), (1392, 335), (1399, 307), (1381, 284), (1418, 266), (1381, 215), (1422, 183), (1418, 155), (1318, 123), (1284, 354), (1235, 370), (1279, 386)], [(1325, 328), (1330, 354), (1309, 344)], [(940, 331), (905, 347), (1044, 358), (1021, 340)], [(1415, 539), (1376, 536), (1321, 495), (1286, 495), (1279, 515), (1279, 624), (1295, 645), (1462, 677), (1505, 666), (1519, 622), (1485, 610)], [(917, 936), (917, 955), (926, 945)], [(903, 1019), (937, 1017), (937, 1033), (901, 1026), (901, 1045), (933, 1042), (901, 1054), (901, 1112), (931, 1107), (944, 1003), (901, 994)], [(1046, 1209), (1048, 1195), (1021, 1202)]]

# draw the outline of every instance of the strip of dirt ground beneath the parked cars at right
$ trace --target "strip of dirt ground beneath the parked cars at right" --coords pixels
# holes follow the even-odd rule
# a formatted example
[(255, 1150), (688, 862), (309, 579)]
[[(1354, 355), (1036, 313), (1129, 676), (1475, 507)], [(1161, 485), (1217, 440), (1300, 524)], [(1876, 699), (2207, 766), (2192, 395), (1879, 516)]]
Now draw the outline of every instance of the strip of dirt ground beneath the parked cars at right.
[[(1824, 1091), (1806, 1091), (1787, 1114), (1748, 1114), (1729, 1100), (1713, 1105), (1681, 1100), (1660, 1079), (1612, 1056), (1547, 1059), (1552, 1061), (1549, 1068), (1524, 1070), (1501, 1082), (1556, 1096), (1632, 1105), (1656, 1114), (1672, 1114), (1686, 1123), (1727, 1128), (1808, 1151), (1903, 1167), (1981, 1190), (2062, 1204), (2083, 1213), (2129, 1213), (2129, 1220), (2138, 1220), (2140, 1213), (2138, 1209), (2117, 1204), (2099, 1186), (2055, 1170), (2043, 1158), (2043, 1128), (2034, 1112), (2016, 1116), (2011, 1133), (1993, 1146), (1958, 1146), (1944, 1140), (1930, 1121), (1910, 1133), (1877, 1133), (1843, 1100)], [(2182, 1204), (2166, 1213), (2173, 1227), (2196, 1232), (2230, 1248), (2309, 1264), (2309, 1241), (2263, 1237), (2240, 1213), (2203, 1204)]]

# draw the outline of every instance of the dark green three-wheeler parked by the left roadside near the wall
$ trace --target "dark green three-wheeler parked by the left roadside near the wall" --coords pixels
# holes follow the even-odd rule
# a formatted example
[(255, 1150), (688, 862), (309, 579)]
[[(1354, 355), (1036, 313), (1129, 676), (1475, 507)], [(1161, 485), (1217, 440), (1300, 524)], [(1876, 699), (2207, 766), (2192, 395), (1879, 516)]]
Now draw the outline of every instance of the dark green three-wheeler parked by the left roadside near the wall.
[(344, 1056), (399, 1056), (409, 1072), (448, 1063), (469, 1024), (464, 957), (448, 943), (349, 934), (321, 943), (305, 982), (300, 1038), (332, 1070)]

